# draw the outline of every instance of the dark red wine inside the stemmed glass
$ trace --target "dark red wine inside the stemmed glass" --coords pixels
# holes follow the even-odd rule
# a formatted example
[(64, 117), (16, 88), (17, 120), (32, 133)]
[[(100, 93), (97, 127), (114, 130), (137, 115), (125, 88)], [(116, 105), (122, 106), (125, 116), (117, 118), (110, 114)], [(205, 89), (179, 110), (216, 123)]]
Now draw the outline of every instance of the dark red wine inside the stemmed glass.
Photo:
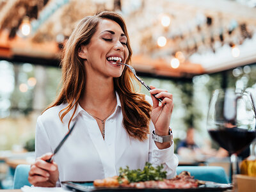
[(241, 152), (256, 137), (256, 131), (248, 131), (237, 127), (210, 130), (211, 138), (216, 141), (220, 147), (225, 148), (229, 154)]

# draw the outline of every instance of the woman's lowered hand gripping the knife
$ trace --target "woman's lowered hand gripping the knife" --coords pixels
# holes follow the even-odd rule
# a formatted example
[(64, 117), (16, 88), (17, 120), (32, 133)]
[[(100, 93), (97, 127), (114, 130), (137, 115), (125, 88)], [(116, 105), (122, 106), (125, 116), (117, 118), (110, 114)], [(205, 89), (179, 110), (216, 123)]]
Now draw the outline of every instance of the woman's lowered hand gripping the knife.
[(28, 180), (33, 186), (56, 187), (59, 178), (58, 165), (55, 162), (47, 163), (46, 160), (52, 157), (52, 153), (44, 154), (36, 158), (31, 164)]

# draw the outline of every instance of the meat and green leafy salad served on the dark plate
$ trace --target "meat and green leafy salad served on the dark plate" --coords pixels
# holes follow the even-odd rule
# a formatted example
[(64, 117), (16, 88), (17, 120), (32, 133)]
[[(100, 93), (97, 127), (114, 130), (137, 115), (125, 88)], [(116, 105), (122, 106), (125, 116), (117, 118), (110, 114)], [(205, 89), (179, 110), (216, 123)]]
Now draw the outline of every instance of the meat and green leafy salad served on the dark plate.
[(204, 182), (194, 179), (189, 172), (181, 172), (173, 179), (166, 179), (163, 165), (154, 168), (146, 163), (143, 170), (129, 170), (129, 167), (120, 168), (119, 176), (94, 180), (95, 187), (120, 187), (120, 188), (157, 188), (157, 189), (185, 189), (198, 188)]

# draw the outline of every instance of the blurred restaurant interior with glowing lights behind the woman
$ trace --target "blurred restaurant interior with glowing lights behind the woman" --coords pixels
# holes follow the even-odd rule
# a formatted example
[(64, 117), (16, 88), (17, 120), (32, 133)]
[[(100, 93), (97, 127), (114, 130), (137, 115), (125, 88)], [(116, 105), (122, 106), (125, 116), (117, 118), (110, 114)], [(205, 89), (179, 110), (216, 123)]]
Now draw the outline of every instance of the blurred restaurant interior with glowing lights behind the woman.
[[(60, 89), (63, 45), (79, 20), (103, 10), (124, 17), (137, 76), (173, 94), (179, 167), (218, 166), (233, 189), (256, 191), (255, 126), (234, 151), (237, 180), (233, 152), (209, 134), (216, 90), (248, 93), (255, 125), (255, 0), (0, 0), (0, 189), (20, 190), (15, 169), (35, 162), (36, 119)], [(253, 173), (242, 174), (245, 161)]]

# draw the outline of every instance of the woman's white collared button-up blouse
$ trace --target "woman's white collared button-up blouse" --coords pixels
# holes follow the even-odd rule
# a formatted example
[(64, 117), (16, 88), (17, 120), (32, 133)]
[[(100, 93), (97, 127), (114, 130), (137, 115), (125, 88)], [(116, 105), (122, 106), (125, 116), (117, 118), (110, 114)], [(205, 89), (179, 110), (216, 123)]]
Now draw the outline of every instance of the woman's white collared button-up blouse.
[[(147, 100), (148, 100), (147, 96)], [(148, 161), (154, 166), (163, 164), (167, 177), (176, 175), (178, 159), (173, 154), (173, 145), (159, 150), (152, 140), (139, 141), (131, 138), (122, 125), (123, 115), (118, 94), (115, 112), (105, 123), (105, 140), (102, 138), (96, 120), (77, 106), (74, 119), (70, 127), (77, 121), (74, 131), (54, 156), (60, 172), (59, 181), (89, 181), (104, 179), (118, 175), (120, 167), (129, 166), (130, 169), (143, 169)], [(151, 101), (152, 102), (152, 101)], [(67, 104), (47, 109), (36, 122), (36, 157), (47, 152), (53, 152), (62, 138), (68, 132), (68, 120), (74, 109), (70, 110), (61, 123), (58, 116)], [(150, 122), (150, 131), (154, 124)]]

